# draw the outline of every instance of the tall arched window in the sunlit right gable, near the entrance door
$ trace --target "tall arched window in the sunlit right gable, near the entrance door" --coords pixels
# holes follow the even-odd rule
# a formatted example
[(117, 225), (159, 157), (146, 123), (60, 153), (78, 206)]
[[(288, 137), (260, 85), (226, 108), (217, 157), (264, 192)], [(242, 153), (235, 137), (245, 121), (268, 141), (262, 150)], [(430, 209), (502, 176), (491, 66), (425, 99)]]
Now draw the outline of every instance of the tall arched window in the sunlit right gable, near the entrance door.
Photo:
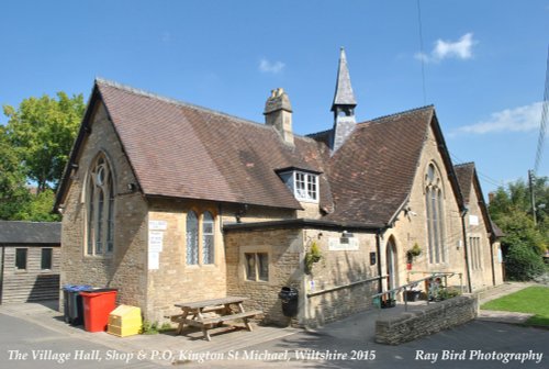
[(429, 262), (441, 264), (446, 262), (444, 192), (441, 176), (434, 164), (427, 167), (425, 183)]

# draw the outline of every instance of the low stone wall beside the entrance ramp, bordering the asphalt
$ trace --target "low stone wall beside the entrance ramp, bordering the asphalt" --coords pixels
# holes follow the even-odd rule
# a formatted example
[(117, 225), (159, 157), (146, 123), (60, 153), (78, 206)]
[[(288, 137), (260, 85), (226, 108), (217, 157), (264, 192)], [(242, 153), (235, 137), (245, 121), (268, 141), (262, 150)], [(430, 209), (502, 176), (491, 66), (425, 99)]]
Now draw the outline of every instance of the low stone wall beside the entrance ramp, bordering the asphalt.
[(464, 324), (477, 317), (478, 304), (477, 297), (461, 295), (432, 303), (423, 311), (381, 317), (376, 322), (376, 342), (400, 345)]

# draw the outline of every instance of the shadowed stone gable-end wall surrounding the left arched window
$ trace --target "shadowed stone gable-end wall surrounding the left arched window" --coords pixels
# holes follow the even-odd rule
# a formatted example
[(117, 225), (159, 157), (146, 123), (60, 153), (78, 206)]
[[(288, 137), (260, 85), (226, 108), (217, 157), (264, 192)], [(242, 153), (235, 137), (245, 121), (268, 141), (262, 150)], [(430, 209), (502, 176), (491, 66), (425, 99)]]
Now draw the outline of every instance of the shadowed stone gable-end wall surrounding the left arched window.
[[(115, 176), (114, 250), (112, 255), (90, 256), (85, 253), (83, 185), (99, 153), (105, 154)], [(119, 303), (145, 310), (147, 203), (139, 192), (127, 191), (127, 185), (136, 179), (102, 104), (93, 112), (91, 133), (82, 143), (77, 164), (61, 204), (60, 283), (117, 288)]]

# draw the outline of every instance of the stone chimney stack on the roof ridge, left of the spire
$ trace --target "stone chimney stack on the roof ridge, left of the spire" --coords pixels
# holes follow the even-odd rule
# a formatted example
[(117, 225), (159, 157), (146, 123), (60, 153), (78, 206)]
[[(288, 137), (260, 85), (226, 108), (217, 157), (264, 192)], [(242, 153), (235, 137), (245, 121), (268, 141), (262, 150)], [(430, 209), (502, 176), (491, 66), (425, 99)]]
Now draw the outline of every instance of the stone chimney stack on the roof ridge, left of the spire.
[(282, 136), (282, 139), (293, 146), (292, 132), (292, 105), (283, 89), (271, 91), (271, 96), (265, 103), (265, 123), (273, 126)]

